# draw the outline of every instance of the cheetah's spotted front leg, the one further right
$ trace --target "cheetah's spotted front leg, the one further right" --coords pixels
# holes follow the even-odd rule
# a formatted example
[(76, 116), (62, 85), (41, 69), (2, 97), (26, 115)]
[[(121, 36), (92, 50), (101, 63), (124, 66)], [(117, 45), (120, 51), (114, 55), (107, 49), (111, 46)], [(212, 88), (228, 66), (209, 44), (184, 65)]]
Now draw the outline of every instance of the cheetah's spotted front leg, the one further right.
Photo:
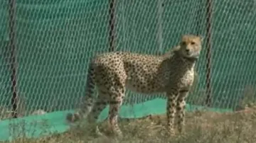
[(188, 96), (188, 91), (180, 91), (177, 104), (176, 104), (176, 110), (178, 115), (178, 132), (183, 132), (184, 130), (184, 124), (185, 124), (185, 106), (186, 106), (186, 97)]

